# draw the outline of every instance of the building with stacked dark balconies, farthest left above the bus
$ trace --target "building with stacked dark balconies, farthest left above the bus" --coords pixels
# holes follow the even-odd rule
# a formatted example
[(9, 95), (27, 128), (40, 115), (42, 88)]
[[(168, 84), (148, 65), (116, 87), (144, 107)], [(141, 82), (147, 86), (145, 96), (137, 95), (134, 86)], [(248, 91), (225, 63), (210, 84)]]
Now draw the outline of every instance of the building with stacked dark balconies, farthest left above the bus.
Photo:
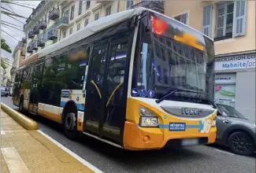
[(44, 47), (57, 42), (59, 19), (59, 2), (42, 1), (24, 24), (25, 58), (31, 57), (33, 53)]

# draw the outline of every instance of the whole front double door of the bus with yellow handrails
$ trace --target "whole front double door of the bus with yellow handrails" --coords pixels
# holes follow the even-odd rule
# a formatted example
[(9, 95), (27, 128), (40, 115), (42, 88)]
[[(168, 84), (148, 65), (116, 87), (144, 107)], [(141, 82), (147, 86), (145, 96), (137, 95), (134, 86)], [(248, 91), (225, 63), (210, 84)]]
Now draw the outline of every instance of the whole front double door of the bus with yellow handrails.
[(84, 128), (116, 142), (121, 142), (125, 119), (129, 34), (95, 44), (87, 76)]

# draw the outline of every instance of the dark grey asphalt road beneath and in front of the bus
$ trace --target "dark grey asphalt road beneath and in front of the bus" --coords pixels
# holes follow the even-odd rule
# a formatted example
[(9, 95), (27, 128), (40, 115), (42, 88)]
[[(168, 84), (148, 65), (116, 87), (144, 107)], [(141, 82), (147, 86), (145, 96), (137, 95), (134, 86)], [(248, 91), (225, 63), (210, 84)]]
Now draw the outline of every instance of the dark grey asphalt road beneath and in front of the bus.
[[(2, 98), (2, 102), (17, 109), (11, 98)], [(104, 172), (255, 172), (255, 156), (239, 156), (220, 146), (124, 151), (85, 135), (77, 141), (70, 141), (61, 133), (58, 124), (44, 118), (31, 117), (39, 123), (41, 131)]]

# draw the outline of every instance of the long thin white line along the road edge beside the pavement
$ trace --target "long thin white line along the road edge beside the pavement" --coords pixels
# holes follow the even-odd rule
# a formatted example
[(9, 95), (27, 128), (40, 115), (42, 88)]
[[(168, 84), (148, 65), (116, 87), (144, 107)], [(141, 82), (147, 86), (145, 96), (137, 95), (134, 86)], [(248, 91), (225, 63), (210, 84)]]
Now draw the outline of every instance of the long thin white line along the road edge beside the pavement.
[(48, 134), (43, 133), (43, 131), (37, 130), (40, 134), (43, 134), (46, 138), (48, 138), (51, 142), (54, 142), (55, 145), (58, 145), (61, 149), (63, 149), (65, 152), (69, 153), (71, 156), (75, 157), (76, 160), (79, 160), (82, 164), (89, 167), (92, 171), (95, 171), (96, 173), (103, 173), (100, 171), (97, 167), (87, 162), (87, 160), (84, 160), (82, 157), (78, 156), (76, 153), (73, 153), (70, 149), (66, 148), (64, 145), (61, 145), (61, 143), (57, 142), (54, 138), (51, 138)]

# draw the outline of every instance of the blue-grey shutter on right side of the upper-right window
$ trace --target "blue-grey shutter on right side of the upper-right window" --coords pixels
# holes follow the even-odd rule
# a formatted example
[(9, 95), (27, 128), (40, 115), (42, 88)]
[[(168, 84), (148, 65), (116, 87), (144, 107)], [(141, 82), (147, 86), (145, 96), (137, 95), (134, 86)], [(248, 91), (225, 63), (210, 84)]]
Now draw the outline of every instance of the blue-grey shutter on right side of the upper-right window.
[(247, 1), (235, 1), (233, 36), (245, 35)]

